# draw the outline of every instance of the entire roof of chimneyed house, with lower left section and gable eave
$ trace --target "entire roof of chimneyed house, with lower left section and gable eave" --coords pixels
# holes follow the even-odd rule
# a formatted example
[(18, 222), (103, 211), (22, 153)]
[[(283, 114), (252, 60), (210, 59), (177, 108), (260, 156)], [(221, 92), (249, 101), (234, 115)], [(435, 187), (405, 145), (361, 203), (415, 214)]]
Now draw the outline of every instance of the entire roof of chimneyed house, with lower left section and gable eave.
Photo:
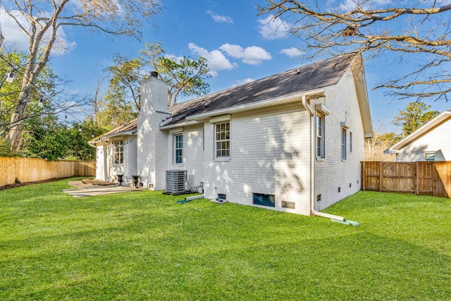
[[(338, 56), (175, 104), (168, 108), (172, 117), (163, 123), (164, 127), (176, 127), (179, 124), (183, 126), (186, 122), (192, 121), (192, 116), (200, 116), (209, 112), (216, 113), (216, 111), (222, 112), (336, 85), (355, 61), (356, 59), (351, 57)], [(364, 133), (365, 137), (372, 137), (373, 130), (361, 59), (358, 59), (358, 65), (359, 70), (354, 69), (354, 73), (356, 73), (354, 81), (357, 85)], [(123, 132), (136, 131), (136, 129), (137, 120), (135, 119), (90, 142), (91, 144), (96, 143), (101, 140), (101, 137), (122, 135)]]

